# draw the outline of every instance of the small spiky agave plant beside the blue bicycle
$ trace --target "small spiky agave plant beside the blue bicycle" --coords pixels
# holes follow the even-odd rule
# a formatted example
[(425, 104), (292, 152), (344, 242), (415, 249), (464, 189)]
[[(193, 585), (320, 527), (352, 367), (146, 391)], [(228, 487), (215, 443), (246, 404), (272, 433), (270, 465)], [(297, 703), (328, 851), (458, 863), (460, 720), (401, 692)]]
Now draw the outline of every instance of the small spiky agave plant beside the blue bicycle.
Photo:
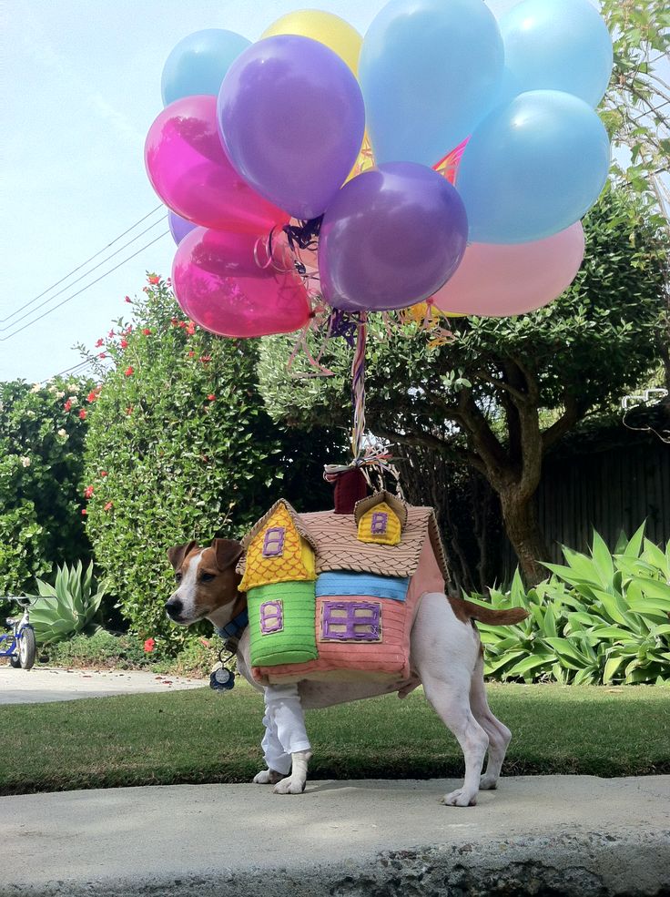
[(59, 566), (55, 584), (38, 579), (37, 590), (39, 594), (31, 596), (30, 622), (38, 644), (50, 645), (79, 633), (93, 635), (100, 628), (96, 617), (105, 591), (104, 584), (94, 584), (93, 562), (86, 573), (81, 561), (72, 567)]

